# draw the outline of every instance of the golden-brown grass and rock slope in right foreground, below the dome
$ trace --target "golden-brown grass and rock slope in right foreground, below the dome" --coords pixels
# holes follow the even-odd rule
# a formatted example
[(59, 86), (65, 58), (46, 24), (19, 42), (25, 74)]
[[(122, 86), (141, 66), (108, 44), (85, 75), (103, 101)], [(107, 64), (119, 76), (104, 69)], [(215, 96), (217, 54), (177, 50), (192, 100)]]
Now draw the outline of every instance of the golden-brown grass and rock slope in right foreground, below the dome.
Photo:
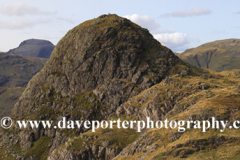
[[(143, 115), (142, 119), (149, 116), (154, 120), (159, 116), (159, 119), (168, 118), (169, 121), (211, 121), (215, 117), (228, 121), (227, 128), (224, 132), (212, 128), (206, 132), (202, 132), (202, 128), (186, 129), (185, 132), (178, 132), (178, 128), (149, 129), (114, 160), (239, 159), (239, 129), (230, 127), (240, 119), (239, 78), (239, 70), (221, 73), (209, 70), (202, 76), (173, 75), (131, 98), (120, 106), (121, 112), (117, 115), (126, 112), (129, 119), (135, 119), (133, 115)], [(162, 116), (162, 113), (166, 114)]]

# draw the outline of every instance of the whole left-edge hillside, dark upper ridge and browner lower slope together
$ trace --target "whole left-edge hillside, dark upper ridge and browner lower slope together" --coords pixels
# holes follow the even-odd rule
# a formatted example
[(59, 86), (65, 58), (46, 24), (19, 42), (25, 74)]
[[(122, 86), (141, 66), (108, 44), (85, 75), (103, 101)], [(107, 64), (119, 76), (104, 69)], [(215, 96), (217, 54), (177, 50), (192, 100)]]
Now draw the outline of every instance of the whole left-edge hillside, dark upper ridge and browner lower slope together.
[(47, 59), (0, 53), (0, 118), (8, 116), (28, 81)]

